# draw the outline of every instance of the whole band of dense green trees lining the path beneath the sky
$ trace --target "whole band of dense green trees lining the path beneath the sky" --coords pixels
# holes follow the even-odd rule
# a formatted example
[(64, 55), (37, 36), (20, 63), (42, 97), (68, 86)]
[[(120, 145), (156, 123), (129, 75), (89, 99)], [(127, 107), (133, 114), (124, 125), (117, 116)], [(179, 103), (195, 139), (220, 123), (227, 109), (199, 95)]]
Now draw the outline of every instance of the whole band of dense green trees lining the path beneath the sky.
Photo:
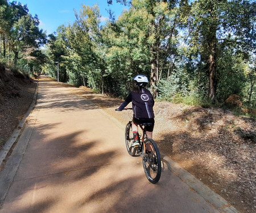
[[(108, 1), (112, 4), (112, 1)], [(159, 100), (256, 106), (255, 0), (117, 0), (105, 25), (98, 5), (46, 35), (27, 5), (0, 0), (0, 62), (123, 98), (135, 74)]]

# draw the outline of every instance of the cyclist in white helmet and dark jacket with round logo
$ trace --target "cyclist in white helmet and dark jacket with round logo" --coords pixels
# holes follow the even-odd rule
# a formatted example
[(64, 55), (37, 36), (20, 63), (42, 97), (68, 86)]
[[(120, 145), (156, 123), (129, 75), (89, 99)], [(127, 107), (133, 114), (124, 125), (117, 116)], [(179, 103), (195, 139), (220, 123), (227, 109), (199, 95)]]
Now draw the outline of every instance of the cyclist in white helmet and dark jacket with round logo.
[(146, 76), (139, 74), (134, 77), (134, 86), (131, 93), (127, 96), (125, 101), (119, 106), (118, 111), (122, 111), (130, 102), (133, 105), (133, 147), (139, 145), (138, 124), (152, 123), (151, 126), (146, 126), (146, 133), (148, 138), (152, 139), (152, 132), (154, 130), (155, 115), (154, 115), (154, 98), (150, 91), (144, 87), (147, 85), (148, 80)]

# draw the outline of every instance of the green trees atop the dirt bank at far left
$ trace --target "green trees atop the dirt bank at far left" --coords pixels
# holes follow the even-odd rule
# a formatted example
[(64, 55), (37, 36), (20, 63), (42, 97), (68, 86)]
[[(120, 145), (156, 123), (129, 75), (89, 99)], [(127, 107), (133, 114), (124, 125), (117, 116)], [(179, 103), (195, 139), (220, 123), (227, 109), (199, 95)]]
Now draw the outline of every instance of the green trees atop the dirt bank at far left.
[(46, 44), (46, 35), (38, 26), (38, 16), (33, 17), (27, 5), (0, 1), (0, 58), (7, 64), (13, 62), (27, 74), (39, 71), (46, 62), (39, 49)]

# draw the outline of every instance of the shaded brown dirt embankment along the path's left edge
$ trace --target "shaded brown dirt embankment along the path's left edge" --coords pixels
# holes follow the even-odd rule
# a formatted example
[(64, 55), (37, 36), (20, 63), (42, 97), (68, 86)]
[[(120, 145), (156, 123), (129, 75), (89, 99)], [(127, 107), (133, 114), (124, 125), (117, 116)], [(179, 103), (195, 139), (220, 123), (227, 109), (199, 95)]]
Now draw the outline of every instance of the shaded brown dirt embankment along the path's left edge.
[(36, 81), (0, 64), (0, 148), (30, 107)]

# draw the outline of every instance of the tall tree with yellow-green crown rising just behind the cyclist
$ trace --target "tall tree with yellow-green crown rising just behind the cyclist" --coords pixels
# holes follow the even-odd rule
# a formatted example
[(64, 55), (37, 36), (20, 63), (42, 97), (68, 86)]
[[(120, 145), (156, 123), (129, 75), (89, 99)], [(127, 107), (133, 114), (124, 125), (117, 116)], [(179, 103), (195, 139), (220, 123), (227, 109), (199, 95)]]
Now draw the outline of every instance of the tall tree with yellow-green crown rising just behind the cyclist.
[(175, 47), (176, 3), (175, 0), (133, 0), (130, 10), (121, 16), (122, 22), (127, 24), (123, 24), (123, 28), (129, 39), (133, 39), (133, 42), (137, 42), (137, 47), (141, 47), (134, 51), (139, 54), (148, 48), (151, 92), (155, 97), (158, 96), (157, 83)]

